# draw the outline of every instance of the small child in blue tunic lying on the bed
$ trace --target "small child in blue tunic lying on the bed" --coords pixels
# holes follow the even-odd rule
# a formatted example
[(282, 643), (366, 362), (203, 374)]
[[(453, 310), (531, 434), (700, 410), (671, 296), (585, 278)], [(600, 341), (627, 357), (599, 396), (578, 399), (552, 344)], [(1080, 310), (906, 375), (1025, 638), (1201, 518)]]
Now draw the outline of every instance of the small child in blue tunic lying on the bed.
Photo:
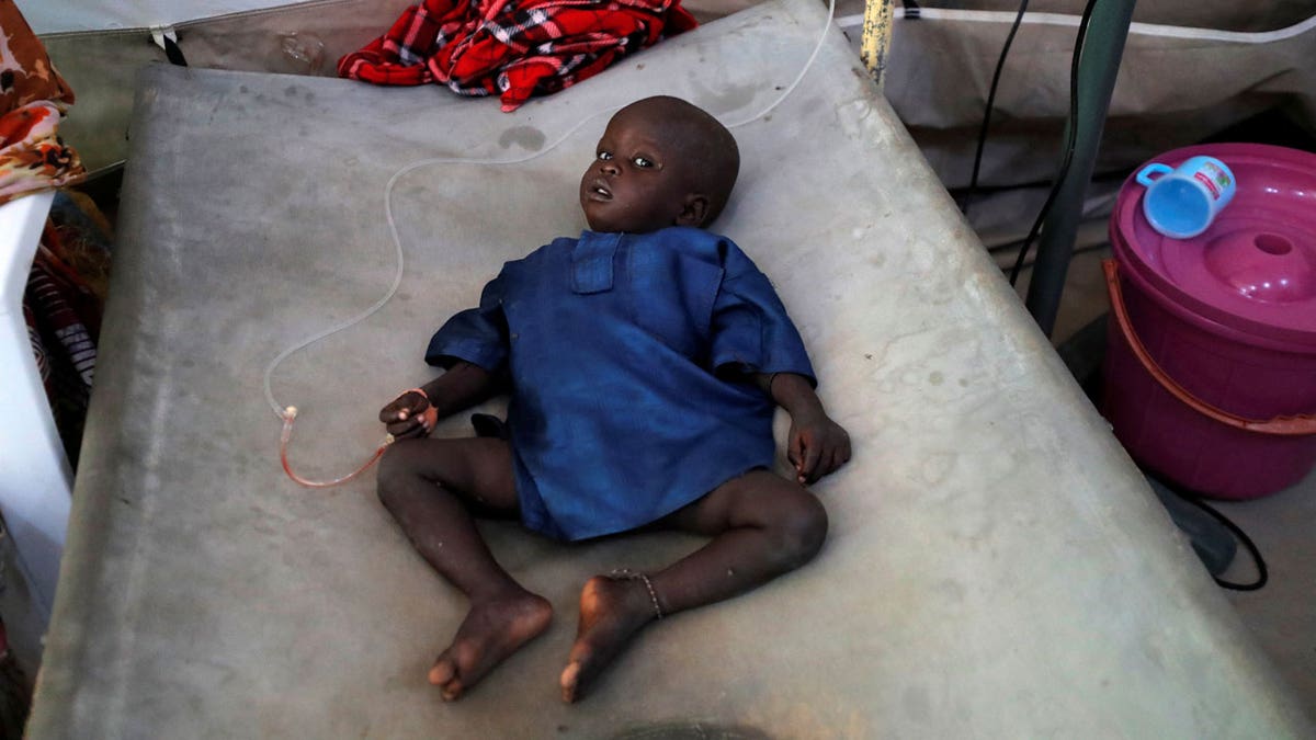
[[(472, 512), (559, 540), (646, 525), (712, 537), (663, 570), (584, 585), (567, 702), (650, 621), (754, 589), (822, 545), (826, 514), (804, 485), (844, 465), (850, 441), (767, 278), (701, 230), (738, 169), (730, 132), (683, 100), (619, 111), (580, 179), (590, 230), (504, 265), (479, 308), (430, 340), (425, 361), (446, 373), (379, 412), (397, 437), (379, 498), (470, 598), (429, 672), (445, 699), (551, 618), (494, 561)], [(504, 388), (507, 441), (428, 438), (437, 419)], [(794, 481), (771, 471), (775, 406), (791, 415)]]

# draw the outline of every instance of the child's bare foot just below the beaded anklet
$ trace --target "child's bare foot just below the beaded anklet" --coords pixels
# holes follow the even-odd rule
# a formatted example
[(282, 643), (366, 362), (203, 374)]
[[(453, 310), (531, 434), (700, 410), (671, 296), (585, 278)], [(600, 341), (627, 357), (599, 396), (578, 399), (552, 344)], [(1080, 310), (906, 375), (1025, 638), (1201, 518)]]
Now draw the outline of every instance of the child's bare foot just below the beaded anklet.
[(583, 687), (654, 618), (653, 600), (644, 582), (604, 575), (587, 581), (580, 591), (576, 641), (562, 670), (562, 700), (579, 699)]

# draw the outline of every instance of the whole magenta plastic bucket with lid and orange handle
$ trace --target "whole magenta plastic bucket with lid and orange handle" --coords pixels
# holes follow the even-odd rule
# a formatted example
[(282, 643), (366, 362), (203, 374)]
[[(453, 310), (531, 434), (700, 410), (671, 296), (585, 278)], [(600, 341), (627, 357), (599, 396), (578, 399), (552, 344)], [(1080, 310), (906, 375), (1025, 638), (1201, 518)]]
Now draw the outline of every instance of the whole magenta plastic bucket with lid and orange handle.
[(1195, 155), (1238, 183), (1202, 234), (1155, 232), (1133, 178), (1116, 200), (1103, 411), (1142, 465), (1248, 499), (1316, 465), (1316, 155), (1232, 144), (1153, 162)]

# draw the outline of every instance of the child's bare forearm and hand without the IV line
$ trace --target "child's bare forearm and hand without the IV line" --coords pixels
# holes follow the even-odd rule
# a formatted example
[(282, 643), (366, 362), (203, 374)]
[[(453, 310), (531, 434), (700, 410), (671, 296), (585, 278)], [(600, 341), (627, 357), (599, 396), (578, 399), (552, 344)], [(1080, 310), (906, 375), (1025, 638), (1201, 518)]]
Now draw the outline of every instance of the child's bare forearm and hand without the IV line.
[(800, 483), (812, 483), (850, 460), (850, 435), (822, 410), (822, 402), (803, 375), (769, 373), (754, 382), (791, 415), (786, 456)]

